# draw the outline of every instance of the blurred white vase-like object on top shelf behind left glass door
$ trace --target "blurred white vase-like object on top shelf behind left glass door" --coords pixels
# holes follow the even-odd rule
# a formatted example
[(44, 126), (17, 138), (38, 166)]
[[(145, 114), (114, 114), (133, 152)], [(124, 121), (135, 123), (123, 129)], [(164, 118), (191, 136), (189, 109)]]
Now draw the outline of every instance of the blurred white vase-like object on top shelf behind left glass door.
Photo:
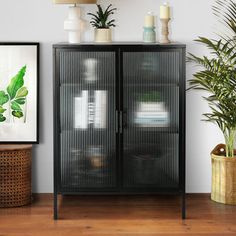
[(84, 67), (85, 67), (84, 76), (87, 82), (94, 82), (97, 80), (97, 73), (96, 73), (97, 64), (98, 61), (95, 58), (88, 58), (84, 60)]

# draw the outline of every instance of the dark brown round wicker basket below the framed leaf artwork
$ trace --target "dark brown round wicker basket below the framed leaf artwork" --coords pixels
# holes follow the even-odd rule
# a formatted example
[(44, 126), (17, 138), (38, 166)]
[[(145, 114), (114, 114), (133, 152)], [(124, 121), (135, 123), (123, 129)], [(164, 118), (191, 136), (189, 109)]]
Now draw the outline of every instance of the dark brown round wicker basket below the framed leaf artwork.
[(0, 207), (31, 202), (31, 145), (0, 145)]

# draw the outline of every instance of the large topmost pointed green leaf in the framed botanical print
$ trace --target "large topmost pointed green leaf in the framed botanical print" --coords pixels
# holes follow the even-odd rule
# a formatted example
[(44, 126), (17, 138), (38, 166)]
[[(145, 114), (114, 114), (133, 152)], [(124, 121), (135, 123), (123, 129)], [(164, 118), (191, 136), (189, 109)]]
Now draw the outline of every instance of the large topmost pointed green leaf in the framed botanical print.
[(18, 91), (24, 85), (24, 76), (26, 72), (26, 66), (23, 66), (18, 74), (11, 79), (10, 84), (7, 87), (7, 92), (12, 100)]

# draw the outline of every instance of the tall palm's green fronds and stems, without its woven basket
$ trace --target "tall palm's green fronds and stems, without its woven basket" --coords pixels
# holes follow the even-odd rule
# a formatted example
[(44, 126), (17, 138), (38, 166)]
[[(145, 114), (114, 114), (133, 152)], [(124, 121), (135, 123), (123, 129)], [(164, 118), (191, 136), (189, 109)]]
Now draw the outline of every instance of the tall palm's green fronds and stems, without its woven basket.
[(227, 29), (218, 39), (199, 37), (196, 42), (205, 45), (211, 56), (189, 54), (188, 61), (201, 67), (190, 80), (190, 89), (209, 93), (204, 99), (211, 112), (203, 114), (205, 121), (213, 122), (222, 131), (226, 157), (234, 157), (236, 135), (236, 2), (216, 0), (214, 14)]

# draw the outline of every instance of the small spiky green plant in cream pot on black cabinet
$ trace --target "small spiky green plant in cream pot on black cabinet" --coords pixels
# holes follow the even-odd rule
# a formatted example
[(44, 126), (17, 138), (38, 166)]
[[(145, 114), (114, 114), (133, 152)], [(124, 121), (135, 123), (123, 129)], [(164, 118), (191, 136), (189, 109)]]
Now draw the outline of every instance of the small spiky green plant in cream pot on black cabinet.
[(115, 27), (115, 20), (110, 20), (109, 16), (114, 14), (116, 8), (111, 7), (112, 4), (103, 11), (101, 5), (97, 5), (98, 11), (96, 14), (88, 13), (88, 15), (92, 16), (90, 23), (95, 28), (94, 39), (97, 43), (109, 43), (112, 41), (111, 27)]

